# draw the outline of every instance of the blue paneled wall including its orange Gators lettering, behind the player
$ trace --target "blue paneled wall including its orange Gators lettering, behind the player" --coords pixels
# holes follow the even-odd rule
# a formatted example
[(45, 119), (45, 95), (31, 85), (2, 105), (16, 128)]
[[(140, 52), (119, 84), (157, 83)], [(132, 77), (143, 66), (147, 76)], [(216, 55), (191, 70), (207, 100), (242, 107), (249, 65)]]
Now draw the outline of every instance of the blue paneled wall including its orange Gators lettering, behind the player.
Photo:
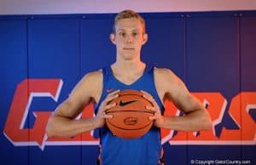
[[(49, 139), (45, 126), (85, 73), (115, 60), (108, 39), (113, 16), (0, 17), (1, 163), (94, 164), (97, 131)], [(212, 130), (199, 133), (163, 129), (166, 164), (255, 164), (255, 11), (143, 16), (149, 35), (143, 60), (181, 77), (213, 121)], [(179, 115), (174, 105), (166, 106), (165, 115)], [(92, 110), (88, 106), (82, 117), (92, 117)]]

